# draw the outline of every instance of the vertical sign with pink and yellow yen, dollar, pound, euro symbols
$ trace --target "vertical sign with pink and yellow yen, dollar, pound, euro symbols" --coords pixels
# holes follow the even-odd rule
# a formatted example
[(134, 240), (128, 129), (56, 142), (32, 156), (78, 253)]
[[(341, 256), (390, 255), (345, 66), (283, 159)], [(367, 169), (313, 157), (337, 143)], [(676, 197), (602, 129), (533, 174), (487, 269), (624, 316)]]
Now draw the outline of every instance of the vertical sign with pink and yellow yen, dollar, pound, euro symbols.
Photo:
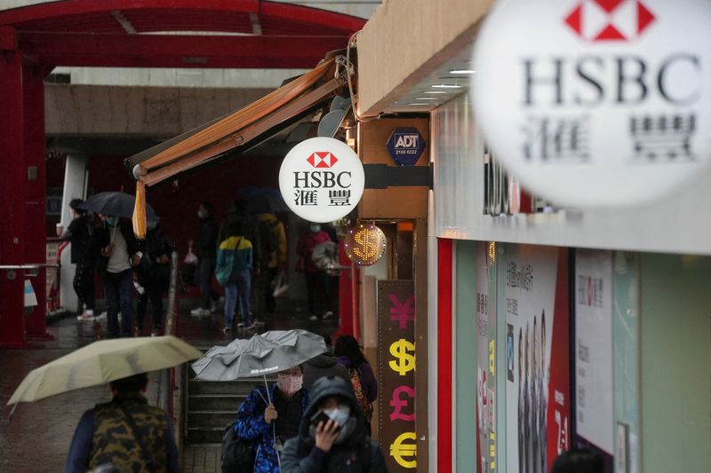
[(417, 468), (415, 287), (378, 281), (379, 441), (388, 471)]

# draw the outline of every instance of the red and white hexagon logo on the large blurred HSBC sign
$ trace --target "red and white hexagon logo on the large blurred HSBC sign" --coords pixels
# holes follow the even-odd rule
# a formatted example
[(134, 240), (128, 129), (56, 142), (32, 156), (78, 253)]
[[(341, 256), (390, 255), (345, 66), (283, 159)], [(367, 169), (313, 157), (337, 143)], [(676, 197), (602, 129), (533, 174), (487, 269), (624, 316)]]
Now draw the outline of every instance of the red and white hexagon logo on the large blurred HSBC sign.
[(642, 35), (656, 17), (639, 0), (580, 0), (565, 23), (582, 39), (627, 42)]

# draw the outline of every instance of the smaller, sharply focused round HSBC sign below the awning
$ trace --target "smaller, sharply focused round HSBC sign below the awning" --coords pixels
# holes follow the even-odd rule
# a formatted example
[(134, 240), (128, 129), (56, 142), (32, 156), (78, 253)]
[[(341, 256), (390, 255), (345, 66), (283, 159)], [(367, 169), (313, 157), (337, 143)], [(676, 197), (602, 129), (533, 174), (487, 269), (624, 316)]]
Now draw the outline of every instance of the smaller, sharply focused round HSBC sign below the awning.
[(346, 217), (363, 195), (365, 176), (358, 155), (334, 138), (310, 138), (286, 154), (279, 189), (296, 215), (310, 222)]

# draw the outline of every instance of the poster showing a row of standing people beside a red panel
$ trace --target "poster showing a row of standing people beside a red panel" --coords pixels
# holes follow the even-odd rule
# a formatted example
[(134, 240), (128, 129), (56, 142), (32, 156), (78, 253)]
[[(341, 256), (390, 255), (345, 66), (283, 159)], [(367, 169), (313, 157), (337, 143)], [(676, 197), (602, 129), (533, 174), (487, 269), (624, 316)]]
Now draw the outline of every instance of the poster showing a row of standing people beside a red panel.
[(545, 473), (571, 445), (568, 252), (505, 249), (507, 467)]

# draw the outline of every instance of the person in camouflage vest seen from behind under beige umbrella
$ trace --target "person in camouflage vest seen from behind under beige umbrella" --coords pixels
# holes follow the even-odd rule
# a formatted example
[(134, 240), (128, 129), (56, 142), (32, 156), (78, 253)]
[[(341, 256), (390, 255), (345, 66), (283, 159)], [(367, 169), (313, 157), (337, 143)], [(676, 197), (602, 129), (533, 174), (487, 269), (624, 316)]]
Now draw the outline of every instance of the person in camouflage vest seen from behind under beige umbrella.
[(148, 374), (134, 374), (108, 383), (113, 398), (82, 415), (69, 446), (64, 473), (104, 470), (180, 471), (171, 417), (148, 406), (143, 396)]

